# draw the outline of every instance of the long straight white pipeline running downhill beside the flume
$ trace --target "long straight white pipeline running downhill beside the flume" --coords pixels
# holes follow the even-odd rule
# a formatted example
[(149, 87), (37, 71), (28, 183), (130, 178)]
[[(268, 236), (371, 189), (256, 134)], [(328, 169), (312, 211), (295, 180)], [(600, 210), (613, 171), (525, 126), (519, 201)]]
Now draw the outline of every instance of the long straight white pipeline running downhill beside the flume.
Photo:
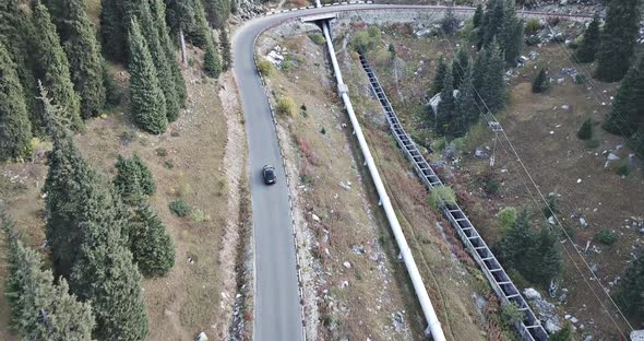
[(401, 255), (403, 256), (403, 260), (405, 261), (405, 266), (407, 268), (407, 272), (409, 273), (409, 278), (412, 279), (412, 283), (414, 284), (416, 296), (418, 296), (420, 307), (422, 308), (422, 313), (425, 314), (425, 318), (427, 319), (429, 332), (431, 333), (434, 341), (445, 341), (445, 336), (443, 333), (443, 329), (441, 328), (439, 318), (436, 315), (433, 306), (431, 305), (431, 301), (429, 299), (429, 295), (427, 294), (427, 290), (425, 289), (425, 284), (422, 283), (422, 278), (420, 277), (418, 268), (416, 267), (416, 261), (414, 261), (414, 256), (412, 255), (409, 245), (407, 245), (407, 240), (405, 239), (405, 235), (403, 234), (403, 230), (401, 228), (401, 224), (398, 223), (398, 219), (396, 217), (394, 208), (392, 207), (389, 196), (386, 195), (384, 185), (382, 184), (382, 179), (380, 178), (380, 174), (378, 173), (378, 168), (373, 163), (373, 157), (371, 156), (369, 145), (367, 145), (367, 141), (365, 140), (365, 136), (362, 134), (360, 124), (356, 118), (356, 113), (354, 113), (354, 107), (351, 106), (351, 101), (348, 95), (347, 86), (342, 80), (342, 74), (339, 72), (337, 59), (335, 58), (335, 49), (333, 48), (333, 43), (331, 42), (331, 35), (329, 33), (329, 22), (322, 23), (322, 31), (324, 32), (324, 37), (326, 38), (326, 46), (329, 47), (329, 54), (331, 55), (331, 62), (333, 63), (333, 70), (335, 72), (335, 78), (337, 80), (338, 92), (342, 96), (342, 99), (344, 101), (347, 113), (349, 114), (349, 119), (351, 120), (356, 138), (358, 139), (358, 143), (360, 144), (360, 149), (362, 150), (362, 154), (365, 155), (365, 163), (369, 168), (369, 173), (371, 174), (371, 178), (373, 179), (373, 184), (375, 185), (375, 189), (378, 191), (378, 195), (380, 196), (380, 201), (382, 203), (382, 207), (384, 208), (384, 212), (394, 233), (394, 237), (396, 238), (396, 243), (398, 244), (398, 248), (401, 249)]

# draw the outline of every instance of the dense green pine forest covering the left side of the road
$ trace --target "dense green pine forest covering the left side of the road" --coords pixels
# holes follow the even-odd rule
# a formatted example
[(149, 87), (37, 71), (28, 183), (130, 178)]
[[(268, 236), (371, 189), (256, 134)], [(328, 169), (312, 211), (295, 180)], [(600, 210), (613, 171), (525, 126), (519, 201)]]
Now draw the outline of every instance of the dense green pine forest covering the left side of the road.
[[(172, 238), (148, 203), (155, 180), (135, 154), (115, 160), (107, 179), (74, 133), (117, 108), (143, 131), (166, 132), (188, 98), (180, 44), (203, 50), (200, 66), (217, 79), (232, 62), (231, 8), (229, 0), (103, 0), (96, 27), (85, 0), (0, 2), (0, 161), (28, 160), (40, 141), (52, 143), (43, 188), (47, 257), (25, 245), (0, 208), (10, 325), (21, 339), (147, 337), (141, 279), (175, 264)], [(129, 83), (112, 78), (118, 64)]]

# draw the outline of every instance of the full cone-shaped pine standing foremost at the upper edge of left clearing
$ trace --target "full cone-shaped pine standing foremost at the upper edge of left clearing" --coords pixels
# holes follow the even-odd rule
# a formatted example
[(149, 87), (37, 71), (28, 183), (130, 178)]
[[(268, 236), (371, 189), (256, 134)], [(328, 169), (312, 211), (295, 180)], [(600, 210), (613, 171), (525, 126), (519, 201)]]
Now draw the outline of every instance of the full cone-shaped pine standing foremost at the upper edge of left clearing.
[(166, 98), (139, 23), (130, 28), (130, 102), (136, 125), (152, 133), (162, 133), (168, 127)]

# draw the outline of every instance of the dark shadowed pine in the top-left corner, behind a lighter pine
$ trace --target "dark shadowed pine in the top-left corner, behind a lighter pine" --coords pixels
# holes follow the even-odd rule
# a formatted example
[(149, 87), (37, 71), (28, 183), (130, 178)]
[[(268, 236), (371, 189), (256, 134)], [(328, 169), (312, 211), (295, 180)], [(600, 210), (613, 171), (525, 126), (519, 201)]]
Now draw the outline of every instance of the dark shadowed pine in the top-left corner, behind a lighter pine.
[(22, 84), (23, 97), (29, 115), (32, 131), (41, 132), (43, 122), (36, 110), (36, 79), (34, 77), (34, 49), (36, 36), (33, 21), (26, 14), (20, 0), (0, 1), (0, 43), (15, 63), (15, 71)]

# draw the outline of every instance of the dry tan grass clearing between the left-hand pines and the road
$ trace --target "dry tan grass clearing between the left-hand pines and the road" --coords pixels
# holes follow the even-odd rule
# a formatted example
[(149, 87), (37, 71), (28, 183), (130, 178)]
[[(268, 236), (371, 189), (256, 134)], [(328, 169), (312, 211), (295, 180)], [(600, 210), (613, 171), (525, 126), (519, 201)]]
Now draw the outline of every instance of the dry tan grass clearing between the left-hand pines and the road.
[[(196, 80), (196, 82), (194, 82)], [(188, 110), (163, 136), (138, 131), (123, 114), (87, 122), (86, 131), (76, 143), (90, 163), (109, 179), (117, 155), (139, 154), (148, 164), (157, 184), (151, 202), (175, 240), (177, 261), (170, 273), (160, 279), (145, 280), (145, 298), (150, 317), (150, 340), (190, 340), (199, 331), (211, 331), (217, 320), (220, 299), (218, 277), (219, 244), (226, 217), (225, 174), (223, 156), (226, 125), (215, 83), (203, 83), (189, 75), (191, 99)], [(124, 137), (133, 139), (126, 142)], [(129, 140), (128, 139), (128, 140)], [(165, 149), (167, 156), (157, 155)], [(22, 174), (24, 186), (5, 185), (2, 178), (0, 199), (26, 234), (32, 246), (44, 239), (43, 201), (39, 188), (46, 176), (44, 158), (34, 164), (1, 165), (4, 174)], [(193, 209), (204, 212), (207, 220), (195, 222), (170, 214), (169, 201), (181, 197)], [(194, 263), (188, 262), (188, 258)], [(2, 267), (4, 269), (4, 267)], [(4, 273), (0, 273), (3, 283)], [(1, 285), (1, 284), (0, 284)], [(0, 339), (7, 333), (7, 305), (0, 299)]]

